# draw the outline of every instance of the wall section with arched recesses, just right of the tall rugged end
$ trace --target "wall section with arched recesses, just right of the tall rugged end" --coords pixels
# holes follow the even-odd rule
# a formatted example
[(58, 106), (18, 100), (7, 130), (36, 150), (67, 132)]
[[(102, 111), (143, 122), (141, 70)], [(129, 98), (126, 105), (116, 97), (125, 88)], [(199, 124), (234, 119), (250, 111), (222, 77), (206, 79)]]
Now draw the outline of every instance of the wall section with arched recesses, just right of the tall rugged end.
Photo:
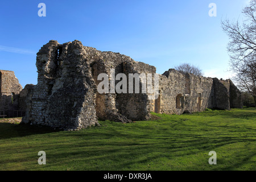
[[(125, 73), (127, 78), (129, 73), (155, 72), (155, 67), (148, 64), (134, 61), (128, 56), (114, 52), (101, 52), (94, 48), (85, 47), (88, 57), (91, 59), (93, 78), (98, 85), (102, 80), (98, 80), (98, 75), (106, 73), (109, 76), (109, 93), (96, 93), (96, 113), (99, 119), (110, 119), (119, 122), (131, 122), (131, 120), (140, 120), (149, 118), (147, 109), (148, 98), (146, 94), (134, 93), (112, 93), (110, 76), (114, 78), (119, 73)], [(132, 66), (131, 66), (132, 65)], [(114, 70), (114, 73), (111, 70)], [(119, 81), (114, 81), (117, 85)]]

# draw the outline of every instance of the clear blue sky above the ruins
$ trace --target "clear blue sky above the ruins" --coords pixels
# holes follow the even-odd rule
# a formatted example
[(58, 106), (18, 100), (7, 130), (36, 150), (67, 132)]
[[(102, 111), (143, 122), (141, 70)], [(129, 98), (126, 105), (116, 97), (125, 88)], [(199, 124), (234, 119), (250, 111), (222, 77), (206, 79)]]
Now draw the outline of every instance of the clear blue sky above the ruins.
[[(46, 4), (46, 17), (38, 4)], [(23, 88), (37, 84), (36, 52), (49, 40), (80, 40), (154, 65), (162, 74), (181, 63), (204, 76), (229, 78), (228, 36), (221, 19), (241, 18), (248, 0), (1, 1), (0, 69), (14, 71)], [(217, 17), (210, 17), (210, 3)]]

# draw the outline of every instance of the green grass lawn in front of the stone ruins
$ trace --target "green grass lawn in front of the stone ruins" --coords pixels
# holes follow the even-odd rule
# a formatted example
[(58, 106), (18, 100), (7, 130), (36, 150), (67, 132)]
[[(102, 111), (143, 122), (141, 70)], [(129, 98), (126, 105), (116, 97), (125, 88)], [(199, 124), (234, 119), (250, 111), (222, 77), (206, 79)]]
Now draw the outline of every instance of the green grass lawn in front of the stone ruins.
[[(0, 170), (256, 170), (256, 110), (56, 131), (0, 119)], [(38, 152), (46, 152), (46, 165)], [(210, 151), (217, 164), (210, 165)]]

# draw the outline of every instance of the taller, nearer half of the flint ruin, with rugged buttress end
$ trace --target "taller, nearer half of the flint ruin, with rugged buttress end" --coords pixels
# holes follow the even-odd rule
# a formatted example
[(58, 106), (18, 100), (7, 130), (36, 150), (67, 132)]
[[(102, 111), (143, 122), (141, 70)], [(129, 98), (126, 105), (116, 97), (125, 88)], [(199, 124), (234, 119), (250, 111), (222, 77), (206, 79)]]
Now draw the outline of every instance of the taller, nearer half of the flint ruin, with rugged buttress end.
[(155, 67), (120, 53), (82, 46), (77, 40), (61, 45), (51, 40), (37, 55), (38, 85), (28, 89), (24, 123), (80, 129), (94, 125), (97, 118), (118, 122), (150, 118), (154, 101), (147, 94), (128, 93), (128, 80), (127, 94), (110, 92), (111, 82), (109, 93), (98, 93), (102, 81), (98, 75), (106, 73), (110, 79), (114, 70), (114, 77), (125, 73), (128, 78), (129, 73), (155, 73)]

